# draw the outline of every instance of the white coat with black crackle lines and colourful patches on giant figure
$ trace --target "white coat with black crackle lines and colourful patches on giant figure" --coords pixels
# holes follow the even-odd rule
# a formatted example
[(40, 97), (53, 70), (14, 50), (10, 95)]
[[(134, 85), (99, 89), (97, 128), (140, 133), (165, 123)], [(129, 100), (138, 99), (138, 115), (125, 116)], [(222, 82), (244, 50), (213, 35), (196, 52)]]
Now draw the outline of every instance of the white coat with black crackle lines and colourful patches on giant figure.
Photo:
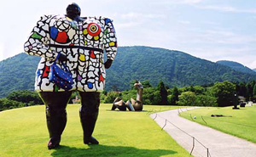
[[(106, 71), (103, 51), (114, 59), (117, 40), (112, 20), (86, 17), (73, 21), (65, 16), (44, 15), (34, 27), (24, 46), (29, 55), (42, 57), (36, 75), (36, 91), (64, 91), (49, 82), (49, 67), (57, 53), (67, 56), (67, 69), (73, 75), (73, 88), (82, 92), (101, 92), (105, 86)], [(61, 69), (64, 67), (57, 61)]]

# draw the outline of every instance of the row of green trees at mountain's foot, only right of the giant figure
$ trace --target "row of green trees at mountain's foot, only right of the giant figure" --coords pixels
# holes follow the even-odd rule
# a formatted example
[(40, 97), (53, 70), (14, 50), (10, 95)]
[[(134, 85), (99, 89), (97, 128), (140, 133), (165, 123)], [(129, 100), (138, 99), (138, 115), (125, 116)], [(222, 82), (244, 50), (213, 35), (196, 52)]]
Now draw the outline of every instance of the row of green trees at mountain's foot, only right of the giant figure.
[[(134, 82), (131, 82), (133, 84)], [(143, 104), (169, 104), (186, 106), (231, 106), (234, 105), (235, 94), (243, 96), (247, 101), (256, 101), (256, 83), (250, 81), (241, 82), (216, 82), (208, 86), (190, 86), (182, 88), (169, 88), (163, 81), (157, 87), (152, 87), (149, 81), (142, 81)], [(102, 94), (102, 103), (113, 103), (114, 98), (122, 98), (127, 101), (137, 97), (137, 90), (124, 92), (105, 92)]]

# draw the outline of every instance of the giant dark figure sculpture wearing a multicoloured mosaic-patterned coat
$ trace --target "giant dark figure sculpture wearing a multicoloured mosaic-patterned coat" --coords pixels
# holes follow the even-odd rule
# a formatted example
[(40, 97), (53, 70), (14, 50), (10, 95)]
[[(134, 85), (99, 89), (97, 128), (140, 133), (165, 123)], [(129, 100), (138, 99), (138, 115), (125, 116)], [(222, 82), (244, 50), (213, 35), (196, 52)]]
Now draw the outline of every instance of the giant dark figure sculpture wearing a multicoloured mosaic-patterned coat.
[[(102, 16), (80, 17), (81, 9), (76, 3), (69, 4), (66, 13), (42, 16), (24, 45), (27, 54), (41, 57), (35, 90), (46, 107), (49, 149), (55, 149), (61, 142), (67, 124), (67, 103), (74, 91), (81, 99), (79, 115), (84, 143), (99, 143), (91, 135), (99, 112), (100, 92), (105, 87), (105, 69), (111, 66), (117, 53), (112, 20)], [(104, 51), (107, 53), (105, 62)], [(50, 66), (55, 59), (56, 64), (62, 70), (67, 69), (73, 77), (69, 90), (49, 81)]]

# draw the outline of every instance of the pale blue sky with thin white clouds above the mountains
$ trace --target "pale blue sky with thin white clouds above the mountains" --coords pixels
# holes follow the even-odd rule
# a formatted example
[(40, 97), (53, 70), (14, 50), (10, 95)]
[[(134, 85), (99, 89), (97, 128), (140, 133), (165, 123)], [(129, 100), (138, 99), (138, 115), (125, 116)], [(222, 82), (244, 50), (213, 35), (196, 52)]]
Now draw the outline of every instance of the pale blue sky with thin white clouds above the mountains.
[(72, 2), (82, 16), (112, 19), (119, 46), (167, 48), (256, 68), (255, 0), (1, 1), (0, 60), (23, 52), (42, 14), (65, 14)]

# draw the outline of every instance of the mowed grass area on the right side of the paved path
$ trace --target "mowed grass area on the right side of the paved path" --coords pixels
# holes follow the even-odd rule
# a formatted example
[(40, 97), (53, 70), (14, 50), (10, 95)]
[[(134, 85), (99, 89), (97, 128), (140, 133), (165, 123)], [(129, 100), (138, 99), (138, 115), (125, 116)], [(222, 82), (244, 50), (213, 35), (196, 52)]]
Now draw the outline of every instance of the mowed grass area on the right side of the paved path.
[[(211, 115), (226, 116), (211, 117)], [(190, 121), (195, 121), (218, 131), (256, 143), (256, 106), (246, 106), (240, 109), (232, 109), (232, 107), (192, 109), (182, 112), (181, 116)], [(194, 117), (196, 118), (194, 119)]]

